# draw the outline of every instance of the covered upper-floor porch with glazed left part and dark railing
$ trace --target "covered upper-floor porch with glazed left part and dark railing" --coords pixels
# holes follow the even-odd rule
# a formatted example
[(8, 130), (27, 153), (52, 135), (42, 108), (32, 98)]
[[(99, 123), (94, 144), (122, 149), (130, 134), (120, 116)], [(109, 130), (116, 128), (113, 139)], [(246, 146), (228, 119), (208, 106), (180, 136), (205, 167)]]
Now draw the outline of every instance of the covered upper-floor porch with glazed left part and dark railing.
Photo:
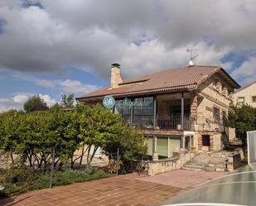
[(115, 113), (132, 127), (193, 131), (196, 120), (195, 93), (168, 93), (152, 97), (116, 100)]

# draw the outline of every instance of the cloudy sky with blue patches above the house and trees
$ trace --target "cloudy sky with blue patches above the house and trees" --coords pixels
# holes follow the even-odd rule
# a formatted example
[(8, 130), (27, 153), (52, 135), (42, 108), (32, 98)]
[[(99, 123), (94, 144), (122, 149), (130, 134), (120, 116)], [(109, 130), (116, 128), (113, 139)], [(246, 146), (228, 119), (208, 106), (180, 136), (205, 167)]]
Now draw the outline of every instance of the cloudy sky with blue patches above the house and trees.
[(256, 80), (256, 1), (0, 0), (0, 112), (34, 94), (51, 106), (124, 79), (188, 65), (219, 65)]

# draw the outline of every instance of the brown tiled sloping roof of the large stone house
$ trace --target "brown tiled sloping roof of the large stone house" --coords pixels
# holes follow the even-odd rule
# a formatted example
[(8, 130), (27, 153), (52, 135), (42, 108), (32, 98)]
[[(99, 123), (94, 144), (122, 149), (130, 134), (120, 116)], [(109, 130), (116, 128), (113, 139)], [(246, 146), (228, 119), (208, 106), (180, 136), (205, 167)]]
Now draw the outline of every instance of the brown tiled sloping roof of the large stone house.
[(186, 66), (177, 69), (162, 70), (152, 74), (123, 80), (118, 88), (110, 86), (87, 93), (77, 99), (99, 98), (105, 95), (114, 97), (135, 96), (149, 93), (167, 93), (176, 91), (188, 91), (196, 89), (197, 86), (210, 78), (215, 73), (222, 71), (229, 79), (234, 88), (239, 88), (234, 79), (220, 66)]

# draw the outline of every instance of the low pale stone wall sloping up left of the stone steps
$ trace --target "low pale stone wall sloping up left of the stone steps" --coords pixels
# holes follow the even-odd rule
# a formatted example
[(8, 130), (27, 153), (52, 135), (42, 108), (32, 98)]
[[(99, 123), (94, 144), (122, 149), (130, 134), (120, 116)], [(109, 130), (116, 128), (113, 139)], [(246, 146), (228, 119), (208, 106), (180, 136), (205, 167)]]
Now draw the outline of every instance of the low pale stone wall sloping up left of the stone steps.
[(181, 153), (180, 156), (171, 159), (148, 161), (147, 174), (152, 176), (171, 170), (181, 169), (181, 166), (185, 165), (186, 162), (191, 160), (194, 156), (196, 156), (196, 152), (191, 151), (188, 153)]

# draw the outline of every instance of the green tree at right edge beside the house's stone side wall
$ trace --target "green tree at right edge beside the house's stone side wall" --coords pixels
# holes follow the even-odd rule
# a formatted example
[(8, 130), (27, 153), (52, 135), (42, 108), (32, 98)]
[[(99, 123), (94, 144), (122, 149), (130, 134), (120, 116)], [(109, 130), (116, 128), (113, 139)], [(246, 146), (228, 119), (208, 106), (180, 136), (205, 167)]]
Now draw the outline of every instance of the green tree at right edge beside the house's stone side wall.
[(226, 120), (229, 127), (235, 128), (236, 136), (239, 137), (245, 146), (246, 132), (256, 129), (256, 111), (253, 107), (242, 105), (230, 105), (229, 117)]

